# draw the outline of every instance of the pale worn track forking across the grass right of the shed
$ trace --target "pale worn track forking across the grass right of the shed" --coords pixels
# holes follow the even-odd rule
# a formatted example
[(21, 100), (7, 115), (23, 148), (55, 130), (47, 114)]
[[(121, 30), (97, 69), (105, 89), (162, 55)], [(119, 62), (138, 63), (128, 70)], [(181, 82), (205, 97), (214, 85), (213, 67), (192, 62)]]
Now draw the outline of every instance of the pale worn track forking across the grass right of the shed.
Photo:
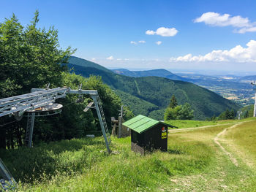
[[(208, 141), (209, 145), (215, 151), (216, 159), (214, 164), (209, 166), (208, 170), (206, 170), (205, 172), (191, 174), (187, 176), (170, 177), (170, 183), (163, 186), (162, 188), (159, 188), (159, 191), (250, 191), (250, 183), (252, 182), (252, 179), (255, 179), (255, 176), (252, 176), (252, 173), (249, 171), (249, 169), (247, 169), (246, 166), (239, 166), (241, 162), (240, 157), (239, 159), (236, 159), (234, 157), (235, 153), (228, 152), (225, 149), (225, 144), (227, 143), (227, 141), (225, 139), (222, 139), (224, 134), (227, 133), (227, 130), (236, 128), (236, 126), (239, 126), (242, 123), (246, 122), (226, 123), (217, 125), (229, 126), (227, 128), (221, 129), (220, 132), (217, 131), (217, 133), (213, 135), (208, 135), (207, 133), (205, 137), (203, 137), (203, 135), (200, 135), (200, 139), (205, 139), (206, 142)], [(184, 135), (184, 138), (189, 139), (189, 136), (193, 134), (192, 130), (217, 126), (184, 128), (180, 130), (170, 130), (170, 132), (177, 132), (178, 135)], [(185, 133), (184, 131), (189, 132)], [(179, 134), (178, 132), (181, 133)], [(197, 137), (197, 131), (195, 133), (195, 137)], [(230, 143), (228, 143), (228, 145), (230, 145)]]

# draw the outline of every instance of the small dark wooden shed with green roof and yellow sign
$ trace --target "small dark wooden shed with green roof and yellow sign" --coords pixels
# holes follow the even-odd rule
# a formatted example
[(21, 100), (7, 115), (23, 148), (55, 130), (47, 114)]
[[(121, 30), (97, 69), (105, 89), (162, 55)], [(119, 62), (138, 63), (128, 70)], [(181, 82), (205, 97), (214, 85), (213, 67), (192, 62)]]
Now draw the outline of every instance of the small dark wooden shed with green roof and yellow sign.
[(123, 123), (131, 129), (132, 150), (145, 154), (146, 151), (167, 151), (168, 127), (176, 127), (158, 120), (138, 115)]

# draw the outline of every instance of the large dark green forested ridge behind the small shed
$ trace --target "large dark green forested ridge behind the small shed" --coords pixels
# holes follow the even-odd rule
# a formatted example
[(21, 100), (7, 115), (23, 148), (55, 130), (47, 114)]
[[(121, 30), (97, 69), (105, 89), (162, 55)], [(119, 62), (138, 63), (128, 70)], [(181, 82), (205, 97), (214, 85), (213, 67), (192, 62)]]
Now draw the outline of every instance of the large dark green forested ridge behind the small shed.
[[(232, 101), (190, 82), (163, 77), (127, 77), (115, 74), (103, 66), (83, 59), (79, 59), (80, 63), (76, 64), (77, 60), (78, 58), (72, 57), (69, 60), (69, 68), (74, 69), (76, 74), (82, 74), (84, 77), (89, 77), (91, 74), (101, 76), (103, 82), (110, 85), (111, 88), (122, 91), (122, 93), (117, 92), (118, 95), (121, 96), (123, 103), (135, 112), (135, 115), (138, 115), (136, 114), (138, 112), (162, 120), (165, 108), (173, 94), (176, 96), (178, 104), (185, 102), (191, 104), (192, 109), (195, 110), (195, 119), (202, 120), (213, 115), (219, 115), (227, 108), (238, 109), (238, 106)], [(136, 105), (131, 104), (135, 97), (140, 99), (136, 99)]]

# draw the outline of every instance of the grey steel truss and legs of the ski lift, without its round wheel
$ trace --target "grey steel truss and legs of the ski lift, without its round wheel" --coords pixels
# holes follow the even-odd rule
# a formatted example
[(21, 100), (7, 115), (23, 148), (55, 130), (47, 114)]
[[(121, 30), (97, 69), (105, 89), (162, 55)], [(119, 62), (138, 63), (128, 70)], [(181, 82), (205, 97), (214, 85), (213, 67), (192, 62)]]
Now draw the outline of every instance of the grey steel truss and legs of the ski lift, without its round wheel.
[[(80, 86), (81, 87), (81, 86)], [(102, 134), (105, 139), (105, 144), (110, 153), (110, 134), (108, 132), (108, 126), (105, 120), (105, 115), (102, 109), (101, 101), (97, 91), (94, 90), (72, 90), (70, 88), (53, 88), (53, 89), (42, 89), (42, 88), (33, 88), (31, 93), (23, 94), (20, 96), (12, 96), (5, 99), (0, 99), (0, 117), (4, 115), (15, 115), (15, 118), (19, 119), (22, 117), (24, 112), (29, 112), (28, 114), (28, 123), (26, 128), (26, 142), (29, 147), (32, 145), (32, 137), (34, 130), (34, 118), (36, 110), (39, 107), (45, 107), (49, 104), (53, 104), (56, 99), (64, 98), (67, 94), (88, 94), (94, 100), (94, 107), (97, 110), (97, 115), (99, 118), (99, 124), (102, 128)], [(4, 180), (14, 180), (8, 172), (7, 168), (4, 166), (4, 163), (0, 158), (0, 173)]]

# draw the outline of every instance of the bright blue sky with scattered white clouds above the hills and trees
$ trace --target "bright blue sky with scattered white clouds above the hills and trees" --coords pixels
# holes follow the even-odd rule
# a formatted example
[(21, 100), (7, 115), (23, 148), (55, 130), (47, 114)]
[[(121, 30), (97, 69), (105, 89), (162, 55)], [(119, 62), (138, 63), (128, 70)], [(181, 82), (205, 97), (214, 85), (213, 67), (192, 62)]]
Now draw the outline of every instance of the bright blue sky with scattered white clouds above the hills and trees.
[(110, 69), (256, 74), (256, 1), (0, 0), (0, 23), (54, 26), (63, 49)]

